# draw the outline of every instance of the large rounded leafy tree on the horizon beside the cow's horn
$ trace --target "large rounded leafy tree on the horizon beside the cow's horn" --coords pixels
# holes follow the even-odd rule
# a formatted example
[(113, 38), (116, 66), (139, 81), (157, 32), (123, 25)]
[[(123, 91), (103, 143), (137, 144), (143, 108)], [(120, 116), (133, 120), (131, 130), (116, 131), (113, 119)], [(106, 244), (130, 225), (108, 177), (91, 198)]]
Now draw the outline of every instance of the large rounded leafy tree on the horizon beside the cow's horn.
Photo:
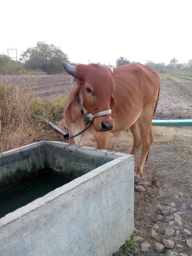
[(28, 48), (21, 54), (27, 68), (40, 68), (47, 75), (58, 74), (63, 71), (62, 60), (68, 62), (67, 54), (63, 53), (59, 47), (46, 42), (38, 42), (36, 47)]

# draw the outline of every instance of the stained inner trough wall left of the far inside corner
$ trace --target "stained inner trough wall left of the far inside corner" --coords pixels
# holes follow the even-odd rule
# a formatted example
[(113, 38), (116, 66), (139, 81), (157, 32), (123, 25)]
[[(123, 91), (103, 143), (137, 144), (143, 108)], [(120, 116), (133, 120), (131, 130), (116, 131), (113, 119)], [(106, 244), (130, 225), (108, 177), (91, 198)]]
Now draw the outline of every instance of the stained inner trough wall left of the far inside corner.
[(9, 150), (0, 154), (0, 190), (32, 179), (46, 167), (45, 143)]

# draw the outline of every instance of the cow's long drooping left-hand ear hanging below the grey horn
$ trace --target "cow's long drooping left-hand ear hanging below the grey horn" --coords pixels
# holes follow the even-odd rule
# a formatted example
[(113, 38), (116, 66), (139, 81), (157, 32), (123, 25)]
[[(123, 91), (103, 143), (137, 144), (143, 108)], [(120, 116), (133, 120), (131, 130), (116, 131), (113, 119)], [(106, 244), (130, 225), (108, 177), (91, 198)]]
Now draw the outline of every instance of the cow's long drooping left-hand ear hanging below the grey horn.
[(83, 107), (83, 94), (81, 86), (81, 81), (77, 80), (68, 97), (65, 115), (71, 123), (75, 122), (76, 116)]

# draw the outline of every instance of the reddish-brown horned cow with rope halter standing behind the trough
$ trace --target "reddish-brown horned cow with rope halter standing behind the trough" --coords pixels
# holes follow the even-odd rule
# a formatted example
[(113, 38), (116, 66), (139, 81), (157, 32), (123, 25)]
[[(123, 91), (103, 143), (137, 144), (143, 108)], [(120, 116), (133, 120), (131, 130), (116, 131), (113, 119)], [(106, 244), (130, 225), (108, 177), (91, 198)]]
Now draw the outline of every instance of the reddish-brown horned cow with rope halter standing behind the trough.
[(85, 146), (96, 141), (97, 148), (106, 149), (109, 132), (117, 136), (130, 128), (133, 135), (131, 154), (135, 156), (142, 144), (140, 161), (134, 172), (134, 177), (139, 178), (153, 142), (151, 123), (159, 98), (159, 75), (140, 63), (113, 70), (112, 66), (70, 66), (63, 61), (63, 67), (77, 79), (65, 108), (69, 136), (85, 128), (83, 107), (92, 115), (112, 110), (111, 114), (94, 117), (92, 126), (69, 143)]

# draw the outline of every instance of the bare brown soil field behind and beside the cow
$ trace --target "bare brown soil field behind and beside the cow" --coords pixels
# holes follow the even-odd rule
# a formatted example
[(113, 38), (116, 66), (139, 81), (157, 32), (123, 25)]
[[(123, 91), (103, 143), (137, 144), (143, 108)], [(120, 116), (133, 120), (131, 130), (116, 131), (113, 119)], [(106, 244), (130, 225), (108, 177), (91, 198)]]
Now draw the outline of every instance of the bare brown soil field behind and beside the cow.
[[(192, 119), (192, 80), (171, 75), (160, 75), (160, 78), (160, 97), (154, 119)], [(28, 81), (32, 93), (45, 100), (60, 94), (68, 96), (71, 88), (71, 78), (68, 75), (3, 79), (13, 83), (22, 79)], [(183, 253), (191, 256), (192, 248), (189, 242), (192, 238), (192, 127), (153, 127), (153, 133), (154, 142), (141, 177), (141, 181), (147, 181), (142, 185), (145, 191), (135, 190), (134, 193), (133, 234), (141, 237), (137, 241), (138, 248), (141, 249), (143, 242), (151, 247), (148, 251), (133, 254), (177, 256)], [(131, 147), (130, 131), (122, 132), (117, 138), (109, 136), (109, 150), (129, 153)], [(138, 159), (139, 156), (136, 157), (135, 163)], [(162, 206), (168, 206), (170, 212), (164, 215)], [(185, 232), (185, 229), (188, 232)], [(157, 252), (154, 245), (163, 244), (163, 239), (171, 240), (173, 248), (164, 248)], [(130, 254), (119, 252), (118, 255)]]

